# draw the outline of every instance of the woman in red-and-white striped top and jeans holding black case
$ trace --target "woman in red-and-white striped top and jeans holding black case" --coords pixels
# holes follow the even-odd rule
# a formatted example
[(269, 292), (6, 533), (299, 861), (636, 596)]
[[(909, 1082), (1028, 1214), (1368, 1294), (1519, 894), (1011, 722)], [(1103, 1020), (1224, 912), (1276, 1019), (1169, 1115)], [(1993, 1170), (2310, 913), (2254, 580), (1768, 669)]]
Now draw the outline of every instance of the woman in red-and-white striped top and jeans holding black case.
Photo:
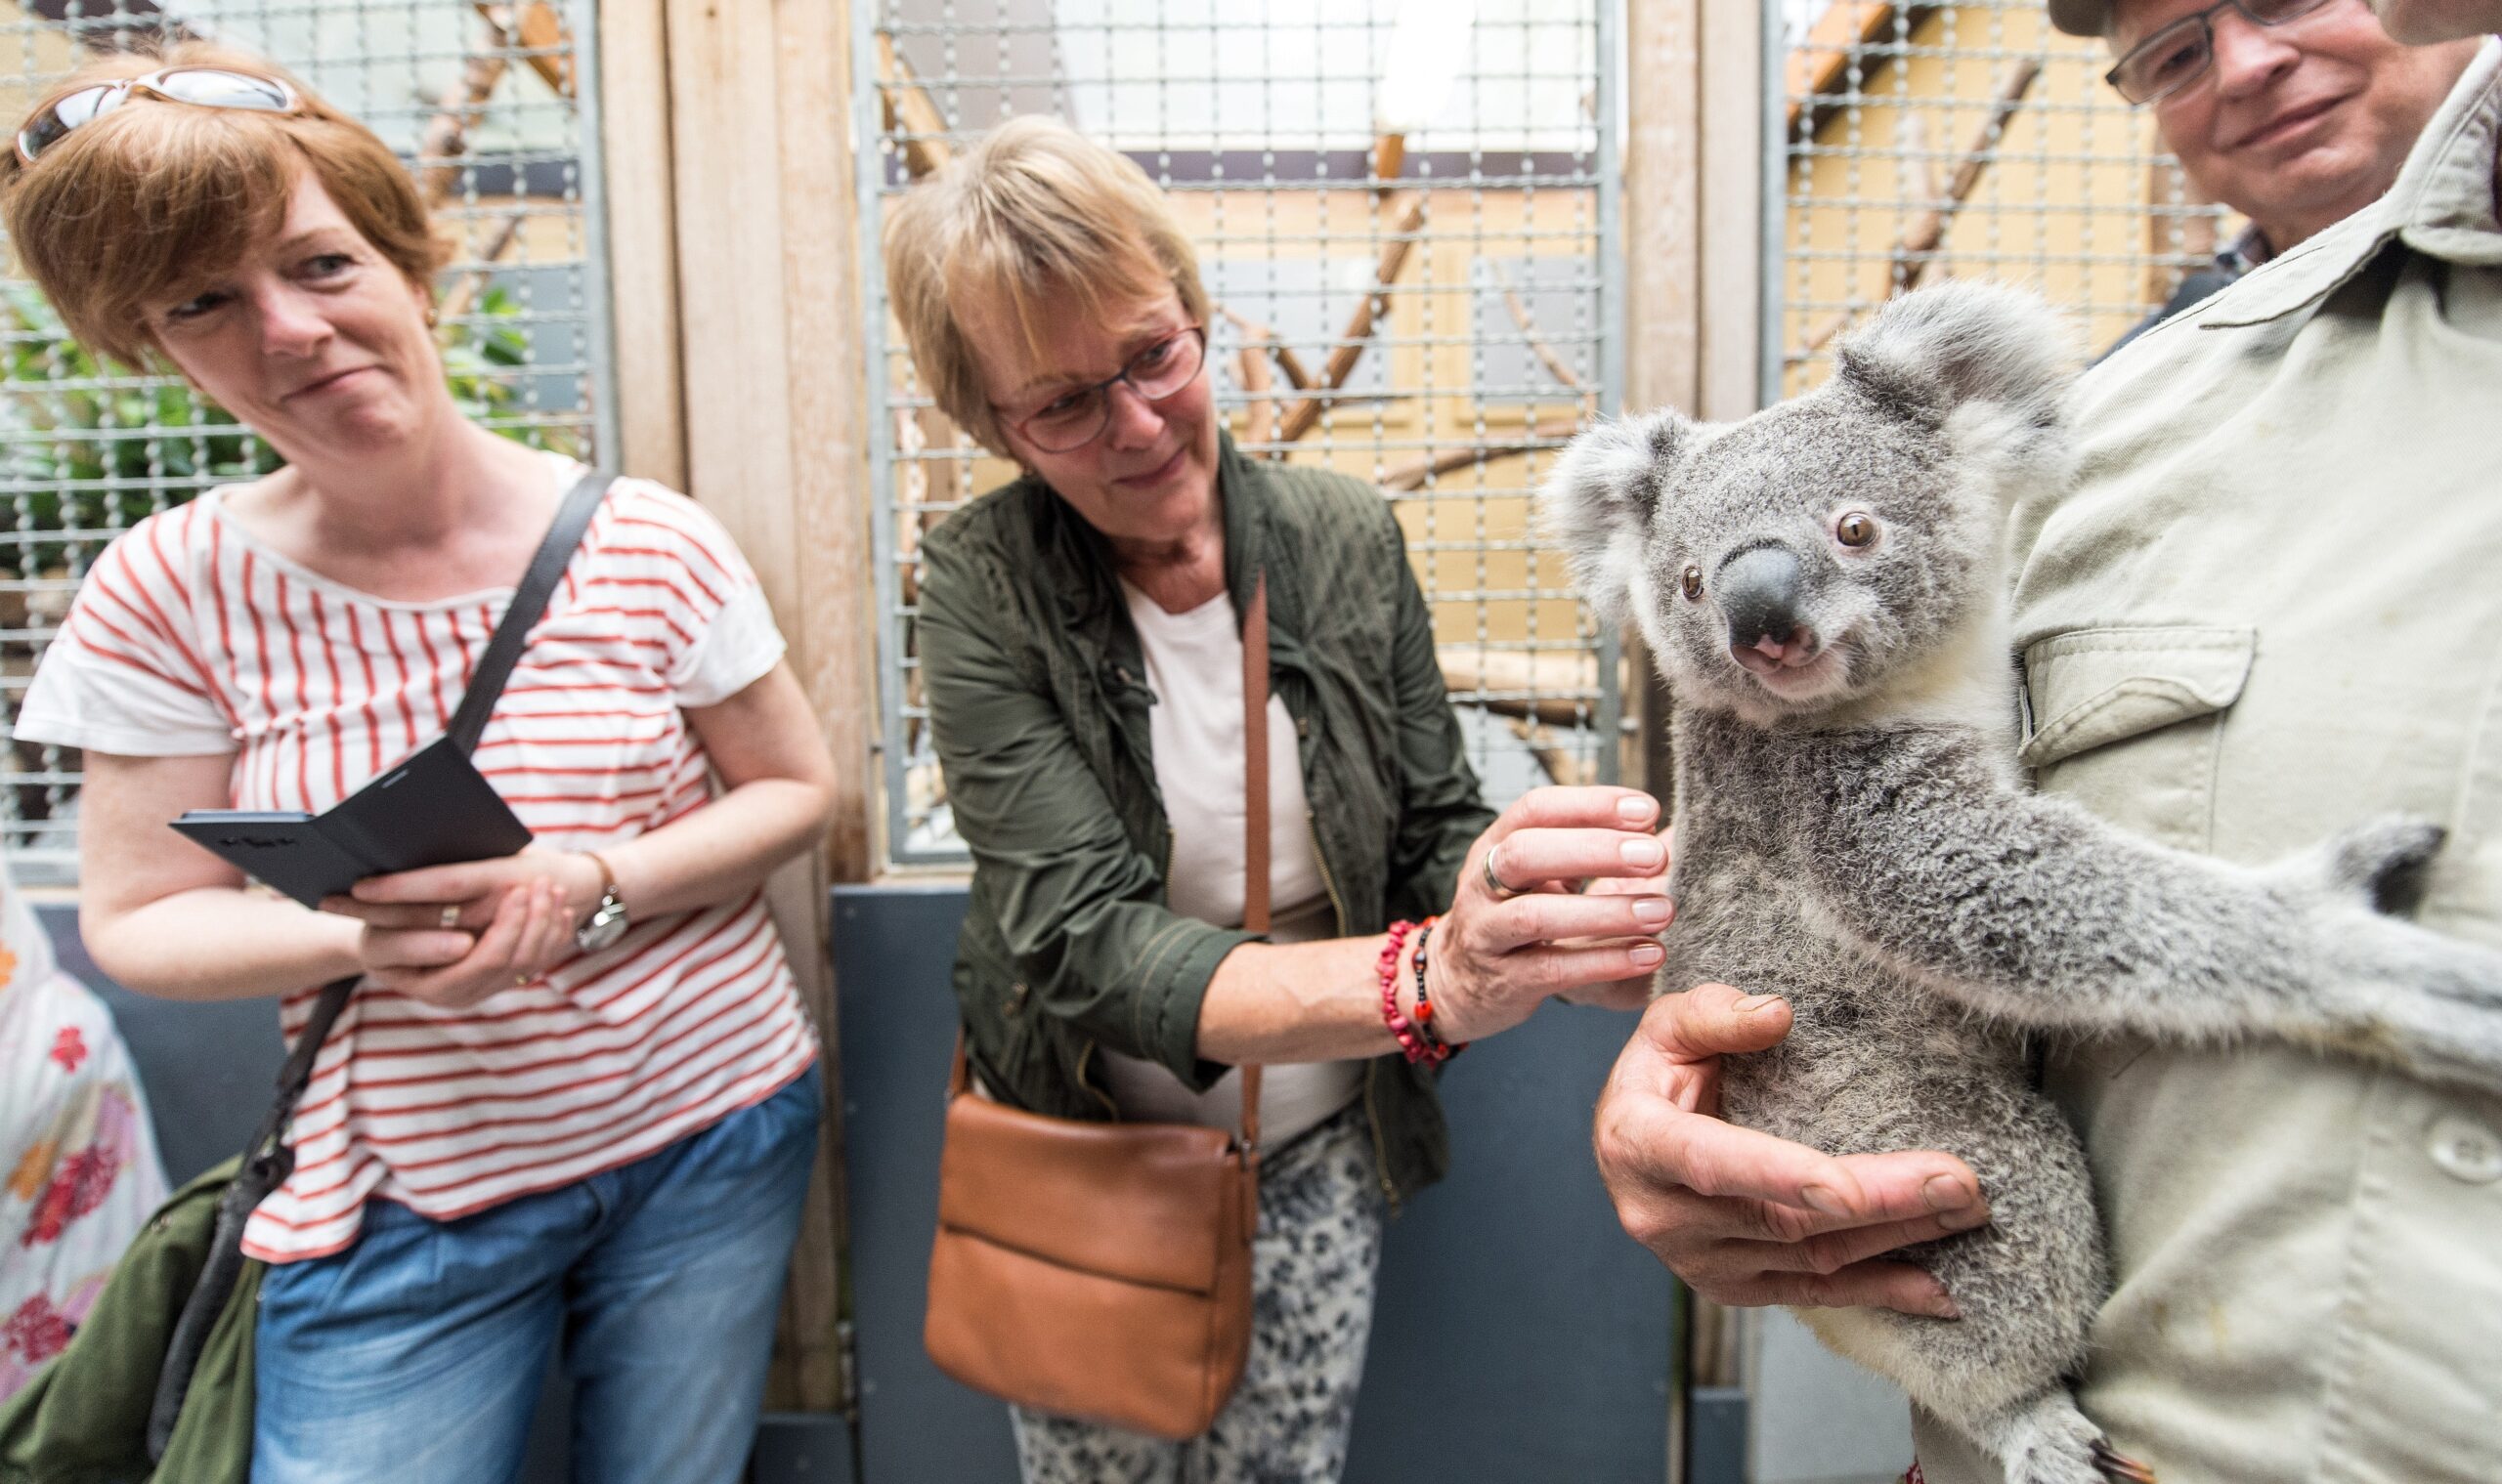
[(85, 748), (100, 968), (278, 994), (290, 1036), (360, 976), (243, 1234), (253, 1479), (508, 1479), (550, 1356), (578, 1479), (736, 1479), (818, 1126), (758, 886), (831, 798), (756, 576), (613, 480), (475, 751), (535, 843), (330, 911), (250, 891), (168, 821), (318, 811), (433, 741), (583, 470), (460, 418), (415, 183), (268, 63), (103, 63), (0, 175), (80, 340), (285, 455), (105, 548), (18, 716)]

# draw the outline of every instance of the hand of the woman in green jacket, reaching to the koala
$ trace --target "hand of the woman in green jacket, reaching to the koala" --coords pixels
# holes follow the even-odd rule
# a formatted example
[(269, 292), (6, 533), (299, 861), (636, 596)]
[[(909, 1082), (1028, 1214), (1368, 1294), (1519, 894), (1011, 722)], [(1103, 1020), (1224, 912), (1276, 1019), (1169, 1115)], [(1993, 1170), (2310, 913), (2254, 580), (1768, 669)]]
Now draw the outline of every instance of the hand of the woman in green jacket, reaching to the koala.
[[(1659, 801), (1639, 788), (1534, 788), (1506, 808), (1469, 848), (1434, 928), (1434, 1029), (1474, 1041), (1526, 1021), (1549, 996), (1646, 986), (1664, 958), (1659, 931), (1676, 916), (1656, 828)], [(1574, 891), (1581, 881), (1594, 888)]]

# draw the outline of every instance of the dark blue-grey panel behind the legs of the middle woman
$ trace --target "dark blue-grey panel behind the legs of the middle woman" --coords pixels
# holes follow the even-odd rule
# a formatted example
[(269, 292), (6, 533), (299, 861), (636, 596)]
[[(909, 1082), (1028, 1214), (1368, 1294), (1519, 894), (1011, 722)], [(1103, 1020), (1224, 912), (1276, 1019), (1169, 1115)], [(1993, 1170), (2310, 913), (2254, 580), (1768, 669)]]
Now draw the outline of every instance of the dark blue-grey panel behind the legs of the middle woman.
[[(838, 886), (861, 1476), (1013, 1479), (1006, 1409), (921, 1351), (961, 886)], [(1549, 1009), (1446, 1079), (1456, 1174), (1391, 1224), (1349, 1484), (1666, 1476), (1669, 1279), (1624, 1239), (1589, 1106), (1626, 1016)]]

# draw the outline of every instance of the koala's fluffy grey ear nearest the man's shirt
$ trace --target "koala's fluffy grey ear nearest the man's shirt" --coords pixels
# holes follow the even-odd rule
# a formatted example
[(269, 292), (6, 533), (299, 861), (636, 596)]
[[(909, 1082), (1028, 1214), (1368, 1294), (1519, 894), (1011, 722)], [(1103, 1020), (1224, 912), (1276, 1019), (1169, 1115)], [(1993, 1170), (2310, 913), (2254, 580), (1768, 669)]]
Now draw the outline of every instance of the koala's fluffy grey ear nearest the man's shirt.
[(1964, 403), (2002, 403), (2037, 428), (2059, 420), (2077, 365), (2049, 303), (1954, 280), (1884, 305), (1841, 343), (1839, 360), (1839, 380), (1889, 413), (1937, 425)]

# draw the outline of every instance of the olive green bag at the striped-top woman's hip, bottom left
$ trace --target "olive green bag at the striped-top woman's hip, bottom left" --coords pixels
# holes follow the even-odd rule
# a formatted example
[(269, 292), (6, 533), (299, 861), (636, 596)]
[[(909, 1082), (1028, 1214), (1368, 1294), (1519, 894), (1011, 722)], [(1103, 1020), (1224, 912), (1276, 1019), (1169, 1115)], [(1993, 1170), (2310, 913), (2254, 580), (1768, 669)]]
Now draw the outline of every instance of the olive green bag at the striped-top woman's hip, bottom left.
[(158, 1206), (70, 1349), (0, 1404), (0, 1484), (243, 1484), (253, 1471), (253, 1316), (260, 1264), (243, 1264), (208, 1331), (165, 1459), (148, 1464), (148, 1406), (173, 1324), (218, 1229), (230, 1159)]

